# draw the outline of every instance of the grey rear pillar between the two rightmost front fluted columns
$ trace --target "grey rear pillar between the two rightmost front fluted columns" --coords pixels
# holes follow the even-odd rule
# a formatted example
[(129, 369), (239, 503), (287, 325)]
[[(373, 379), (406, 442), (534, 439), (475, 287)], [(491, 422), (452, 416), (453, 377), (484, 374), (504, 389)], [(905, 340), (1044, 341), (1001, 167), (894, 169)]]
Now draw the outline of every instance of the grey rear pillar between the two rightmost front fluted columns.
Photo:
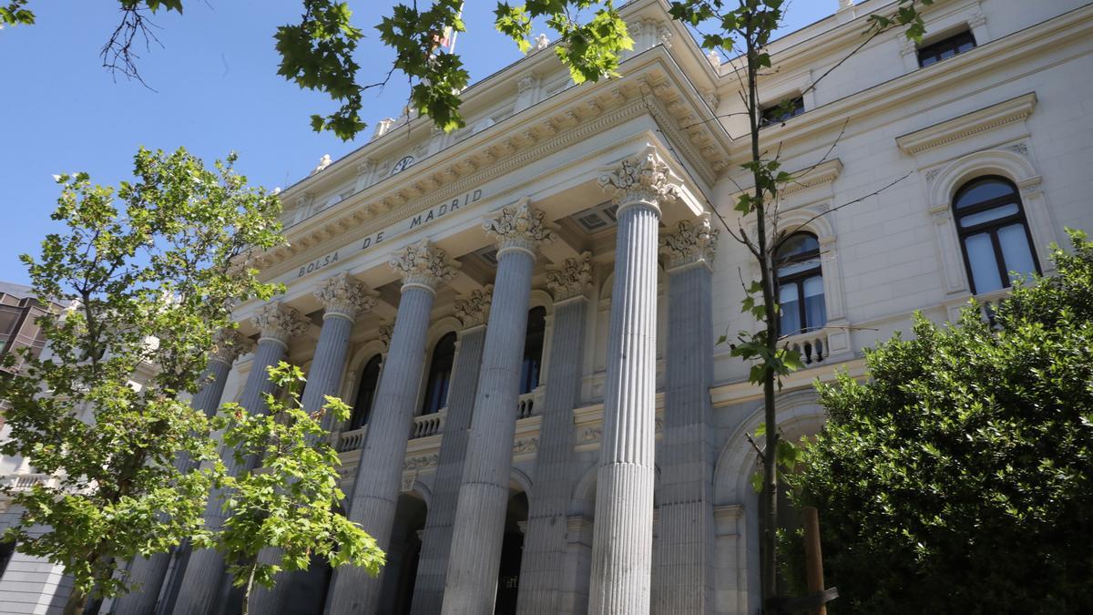
[(554, 295), (550, 380), (543, 398), (536, 460), (536, 488), (528, 502), (528, 531), (520, 561), (517, 613), (563, 613), (568, 558), (566, 512), (573, 494), (573, 409), (580, 399), (586, 292), (592, 266), (588, 253), (546, 271)]

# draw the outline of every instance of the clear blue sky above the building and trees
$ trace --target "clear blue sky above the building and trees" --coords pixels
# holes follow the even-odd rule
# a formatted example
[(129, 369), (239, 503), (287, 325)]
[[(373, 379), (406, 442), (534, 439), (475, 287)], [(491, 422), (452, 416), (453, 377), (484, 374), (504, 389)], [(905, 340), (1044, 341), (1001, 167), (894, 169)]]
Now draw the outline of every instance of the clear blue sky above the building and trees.
[[(836, 0), (797, 0), (786, 30), (816, 21)], [(37, 254), (58, 189), (51, 175), (86, 171), (116, 185), (130, 176), (140, 146), (186, 147), (211, 163), (239, 153), (237, 170), (252, 184), (287, 186), (329, 153), (336, 160), (364, 144), (312, 131), (308, 116), (334, 105), (277, 76), (272, 35), (298, 19), (299, 0), (190, 0), (184, 15), (153, 18), (163, 47), (141, 50), (139, 68), (150, 90), (115, 81), (102, 68), (99, 48), (117, 25), (116, 2), (32, 0), (33, 26), (0, 30), (0, 280), (25, 283), (17, 256)], [(362, 81), (386, 73), (390, 54), (372, 25), (390, 4), (351, 0), (355, 23), (368, 38), (360, 49)], [(493, 1), (467, 3), (457, 51), (480, 80), (519, 59), (516, 46), (492, 27)], [(539, 31), (537, 31), (538, 33)], [(545, 32), (545, 31), (544, 31)], [(369, 124), (398, 115), (404, 81), (392, 79), (365, 96)]]

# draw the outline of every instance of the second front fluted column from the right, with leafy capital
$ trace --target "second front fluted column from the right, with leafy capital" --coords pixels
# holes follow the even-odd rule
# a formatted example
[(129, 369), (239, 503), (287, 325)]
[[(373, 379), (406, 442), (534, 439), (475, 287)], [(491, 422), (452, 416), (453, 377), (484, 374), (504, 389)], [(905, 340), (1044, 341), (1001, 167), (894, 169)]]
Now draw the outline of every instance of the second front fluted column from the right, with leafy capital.
[(554, 232), (543, 213), (531, 208), (527, 199), (504, 208), (498, 218), (487, 220), (483, 228), (497, 240), (497, 278), (453, 529), (442, 610), (445, 615), (493, 612), (505, 535), (531, 274), (537, 246), (554, 241)]

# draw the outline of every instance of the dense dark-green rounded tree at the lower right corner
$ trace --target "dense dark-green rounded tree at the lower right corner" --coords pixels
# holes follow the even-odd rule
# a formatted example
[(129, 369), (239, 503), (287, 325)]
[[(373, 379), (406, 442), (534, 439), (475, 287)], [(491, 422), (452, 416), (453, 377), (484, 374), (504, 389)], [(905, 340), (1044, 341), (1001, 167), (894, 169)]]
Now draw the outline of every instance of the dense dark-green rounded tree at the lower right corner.
[(820, 385), (795, 498), (853, 613), (1093, 612), (1093, 243)]

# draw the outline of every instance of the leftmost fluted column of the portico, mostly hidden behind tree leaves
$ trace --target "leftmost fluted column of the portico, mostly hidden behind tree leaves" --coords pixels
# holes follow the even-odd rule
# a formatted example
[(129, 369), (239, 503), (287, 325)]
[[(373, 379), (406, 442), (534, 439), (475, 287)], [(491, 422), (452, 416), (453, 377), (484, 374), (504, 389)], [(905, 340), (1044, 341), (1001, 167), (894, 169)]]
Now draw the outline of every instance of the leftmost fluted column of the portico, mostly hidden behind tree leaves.
[[(220, 407), (220, 399), (224, 396), (224, 383), (227, 374), (232, 371), (232, 363), (244, 352), (250, 351), (252, 346), (249, 339), (243, 337), (234, 329), (222, 330), (213, 339), (212, 352), (209, 355), (209, 364), (201, 376), (204, 385), (190, 401), (190, 405), (196, 410), (204, 413), (205, 417), (212, 417)], [(186, 474), (192, 472), (197, 464), (187, 453), (180, 453), (175, 460), (175, 467)], [(188, 548), (188, 543), (179, 545), (175, 549), (166, 553), (157, 553), (148, 559), (134, 559), (129, 567), (129, 581), (136, 589), (132, 592), (118, 599), (114, 607), (116, 615), (146, 615), (155, 611), (155, 603), (160, 599), (160, 590), (163, 588), (163, 580), (171, 566), (171, 558), (179, 549)]]

